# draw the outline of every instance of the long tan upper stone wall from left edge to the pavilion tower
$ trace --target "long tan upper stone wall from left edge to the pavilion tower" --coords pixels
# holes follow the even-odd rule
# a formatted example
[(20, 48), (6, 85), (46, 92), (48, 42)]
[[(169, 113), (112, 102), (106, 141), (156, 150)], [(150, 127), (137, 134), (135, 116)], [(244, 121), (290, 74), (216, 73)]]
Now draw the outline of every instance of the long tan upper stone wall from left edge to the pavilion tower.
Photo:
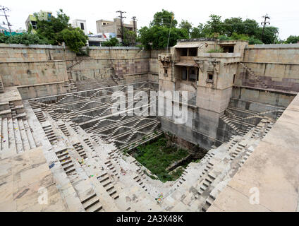
[(21, 86), (20, 93), (26, 99), (66, 93), (63, 83), (70, 78), (111, 79), (111, 73), (105, 73), (107, 68), (114, 68), (112, 73), (123, 76), (125, 83), (158, 82), (154, 66), (157, 61), (150, 51), (139, 47), (90, 47), (89, 54), (77, 57), (61, 46), (0, 44), (0, 76), (4, 87)]

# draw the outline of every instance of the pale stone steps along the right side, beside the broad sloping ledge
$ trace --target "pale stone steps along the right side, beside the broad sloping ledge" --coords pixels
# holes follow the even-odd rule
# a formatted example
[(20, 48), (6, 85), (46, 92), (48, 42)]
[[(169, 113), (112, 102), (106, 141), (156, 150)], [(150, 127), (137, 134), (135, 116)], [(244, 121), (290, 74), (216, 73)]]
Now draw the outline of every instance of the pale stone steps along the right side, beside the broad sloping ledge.
[[(196, 186), (198, 196), (195, 198), (197, 198), (202, 211), (206, 211), (212, 205), (216, 196), (248, 160), (254, 151), (254, 146), (259, 143), (264, 134), (269, 132), (272, 124), (263, 120), (254, 129), (250, 129), (245, 136), (232, 136), (230, 141), (219, 148), (209, 150), (200, 160), (198, 165), (203, 170), (200, 183)], [(196, 169), (198, 170), (199, 167), (197, 166)]]

